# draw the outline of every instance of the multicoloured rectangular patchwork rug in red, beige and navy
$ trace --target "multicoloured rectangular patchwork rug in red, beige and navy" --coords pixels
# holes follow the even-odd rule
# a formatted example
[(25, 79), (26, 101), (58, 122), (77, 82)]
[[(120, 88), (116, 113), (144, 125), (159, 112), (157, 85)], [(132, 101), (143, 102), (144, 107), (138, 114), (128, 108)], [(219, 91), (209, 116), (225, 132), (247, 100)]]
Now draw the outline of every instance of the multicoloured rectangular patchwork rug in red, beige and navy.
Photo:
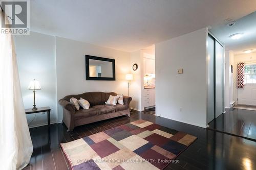
[(145, 120), (61, 143), (72, 169), (163, 169), (197, 137)]

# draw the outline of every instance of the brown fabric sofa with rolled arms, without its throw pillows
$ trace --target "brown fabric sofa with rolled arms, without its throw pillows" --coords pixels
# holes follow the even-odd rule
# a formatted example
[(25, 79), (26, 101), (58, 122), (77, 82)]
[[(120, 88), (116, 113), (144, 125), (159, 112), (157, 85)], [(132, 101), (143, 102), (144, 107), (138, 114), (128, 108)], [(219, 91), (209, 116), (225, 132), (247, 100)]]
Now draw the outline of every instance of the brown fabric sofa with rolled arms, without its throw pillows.
[[(86, 92), (82, 94), (67, 95), (59, 100), (59, 104), (63, 107), (63, 123), (68, 127), (68, 131), (72, 131), (74, 127), (90, 124), (100, 120), (105, 120), (121, 115), (130, 116), (130, 102), (132, 98), (123, 96), (124, 105), (117, 104), (105, 105), (110, 95), (117, 95), (114, 92)], [(90, 103), (90, 108), (84, 110), (80, 107), (77, 111), (75, 106), (70, 103), (70, 98), (85, 99)]]

